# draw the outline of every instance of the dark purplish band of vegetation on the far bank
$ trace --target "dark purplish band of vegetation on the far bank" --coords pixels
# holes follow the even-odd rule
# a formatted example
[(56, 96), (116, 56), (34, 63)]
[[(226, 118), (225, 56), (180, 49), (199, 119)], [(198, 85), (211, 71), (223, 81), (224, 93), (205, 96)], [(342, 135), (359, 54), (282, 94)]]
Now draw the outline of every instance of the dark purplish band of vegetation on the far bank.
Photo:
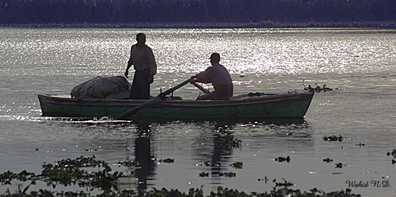
[(395, 10), (394, 0), (0, 0), (0, 24), (271, 27), (304, 23), (396, 28)]

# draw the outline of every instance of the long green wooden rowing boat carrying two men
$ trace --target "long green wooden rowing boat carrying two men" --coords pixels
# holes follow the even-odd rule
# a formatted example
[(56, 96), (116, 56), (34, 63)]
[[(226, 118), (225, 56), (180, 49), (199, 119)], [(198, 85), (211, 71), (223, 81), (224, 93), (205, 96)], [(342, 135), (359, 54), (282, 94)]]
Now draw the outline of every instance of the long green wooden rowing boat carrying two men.
[[(304, 117), (313, 92), (287, 94), (244, 94), (229, 100), (155, 101), (129, 117), (133, 119), (267, 119)], [(146, 100), (77, 99), (70, 96), (38, 95), (43, 116), (117, 117)]]

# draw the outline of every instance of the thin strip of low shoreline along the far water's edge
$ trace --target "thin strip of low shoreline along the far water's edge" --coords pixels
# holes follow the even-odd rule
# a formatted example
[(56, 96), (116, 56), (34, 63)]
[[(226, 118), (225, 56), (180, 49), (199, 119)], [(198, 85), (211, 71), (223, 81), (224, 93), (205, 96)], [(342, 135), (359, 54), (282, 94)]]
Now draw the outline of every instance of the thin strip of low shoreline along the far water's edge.
[(396, 21), (350, 21), (350, 22), (305, 22), (276, 23), (273, 21), (233, 23), (35, 23), (0, 24), (9, 28), (379, 28), (396, 29)]

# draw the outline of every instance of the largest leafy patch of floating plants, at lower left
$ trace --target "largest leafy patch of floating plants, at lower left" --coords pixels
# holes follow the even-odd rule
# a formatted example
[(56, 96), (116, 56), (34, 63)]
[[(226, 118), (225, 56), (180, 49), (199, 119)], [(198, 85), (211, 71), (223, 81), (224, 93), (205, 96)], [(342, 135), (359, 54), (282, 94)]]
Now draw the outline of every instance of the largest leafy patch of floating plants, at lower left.
[[(126, 167), (136, 165), (137, 163), (126, 162), (119, 163)], [(97, 171), (86, 171), (83, 168), (95, 169)], [(56, 162), (55, 164), (47, 164), (46, 162), (42, 166), (41, 174), (29, 173), (22, 171), (19, 174), (12, 173), (10, 171), (0, 174), (0, 183), (11, 184), (11, 181), (30, 181), (30, 184), (23, 190), (32, 184), (35, 185), (36, 181), (43, 181), (48, 186), (53, 188), (57, 184), (64, 186), (78, 185), (80, 187), (99, 188), (107, 191), (111, 189), (117, 190), (117, 179), (120, 177), (127, 177), (122, 172), (111, 173), (109, 163), (104, 161), (95, 160), (95, 156), (92, 157), (77, 157), (77, 159), (65, 159)], [(44, 191), (44, 190), (43, 190)], [(24, 192), (22, 192), (24, 193)]]

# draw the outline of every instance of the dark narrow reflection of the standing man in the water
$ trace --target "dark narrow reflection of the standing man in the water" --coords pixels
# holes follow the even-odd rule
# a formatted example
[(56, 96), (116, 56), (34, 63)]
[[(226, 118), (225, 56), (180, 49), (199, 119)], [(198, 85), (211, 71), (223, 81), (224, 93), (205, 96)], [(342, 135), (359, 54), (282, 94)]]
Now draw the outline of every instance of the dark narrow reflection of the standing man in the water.
[(138, 125), (138, 132), (140, 135), (135, 140), (135, 161), (139, 162), (140, 167), (135, 170), (135, 175), (136, 178), (139, 179), (139, 189), (147, 189), (147, 177), (154, 172), (154, 160), (152, 160), (151, 156), (150, 137), (147, 136), (147, 133), (150, 132), (149, 125), (150, 124), (146, 123)]

